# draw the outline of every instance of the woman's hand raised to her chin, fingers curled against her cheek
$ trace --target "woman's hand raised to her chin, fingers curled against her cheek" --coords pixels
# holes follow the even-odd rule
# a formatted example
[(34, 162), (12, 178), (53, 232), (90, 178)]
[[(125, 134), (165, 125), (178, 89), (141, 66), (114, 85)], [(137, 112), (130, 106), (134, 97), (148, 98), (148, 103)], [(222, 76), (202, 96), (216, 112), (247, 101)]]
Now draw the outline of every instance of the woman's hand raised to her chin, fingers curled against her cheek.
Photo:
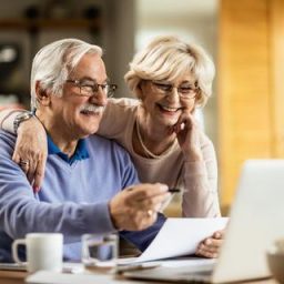
[(179, 144), (189, 162), (201, 161), (200, 129), (191, 112), (183, 112), (174, 125)]

